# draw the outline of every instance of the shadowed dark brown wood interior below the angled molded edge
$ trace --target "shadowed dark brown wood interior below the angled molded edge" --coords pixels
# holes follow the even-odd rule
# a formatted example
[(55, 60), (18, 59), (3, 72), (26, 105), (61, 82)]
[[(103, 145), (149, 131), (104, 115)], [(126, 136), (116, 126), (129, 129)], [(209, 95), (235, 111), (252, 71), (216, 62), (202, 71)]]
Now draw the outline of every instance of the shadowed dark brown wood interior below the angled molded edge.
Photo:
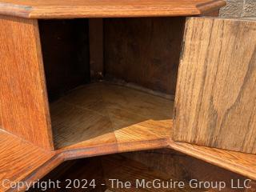
[[(222, 168), (202, 162), (196, 158), (191, 158), (185, 154), (178, 153), (174, 150), (146, 150), (134, 153), (105, 155), (97, 158), (85, 158), (63, 163), (55, 170), (47, 174), (41, 181), (61, 181), (65, 184), (65, 179), (95, 179), (97, 186), (92, 189), (90, 186), (86, 191), (106, 192), (106, 191), (219, 191), (218, 189), (190, 189), (189, 182), (191, 179), (197, 179), (198, 182), (226, 182), (225, 189), (222, 191), (254, 191), (254, 181), (251, 181), (252, 188), (250, 190), (231, 189), (231, 179), (233, 182), (238, 179), (240, 182), (245, 181), (246, 178), (234, 174)], [(117, 189), (112, 187), (109, 179), (118, 178), (121, 181), (132, 182), (130, 189)], [(135, 179), (146, 179), (152, 181), (154, 179), (162, 179), (163, 181), (183, 181), (186, 183), (185, 189), (142, 189), (134, 188)], [(106, 184), (102, 188), (101, 184)], [(98, 187), (99, 186), (99, 187)], [(62, 189), (49, 189), (47, 191), (62, 191)], [(107, 190), (106, 190), (107, 188)], [(30, 190), (38, 191), (38, 190)], [(65, 191), (81, 191), (81, 189), (72, 189)]]

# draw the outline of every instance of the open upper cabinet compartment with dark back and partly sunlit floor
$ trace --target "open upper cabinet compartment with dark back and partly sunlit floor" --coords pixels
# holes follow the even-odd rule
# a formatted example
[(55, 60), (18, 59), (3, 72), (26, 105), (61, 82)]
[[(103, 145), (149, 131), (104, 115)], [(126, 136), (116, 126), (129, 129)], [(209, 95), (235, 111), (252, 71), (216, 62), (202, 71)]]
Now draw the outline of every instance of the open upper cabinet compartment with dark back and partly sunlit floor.
[(55, 149), (167, 145), (184, 22), (104, 18), (95, 79), (89, 19), (39, 20)]

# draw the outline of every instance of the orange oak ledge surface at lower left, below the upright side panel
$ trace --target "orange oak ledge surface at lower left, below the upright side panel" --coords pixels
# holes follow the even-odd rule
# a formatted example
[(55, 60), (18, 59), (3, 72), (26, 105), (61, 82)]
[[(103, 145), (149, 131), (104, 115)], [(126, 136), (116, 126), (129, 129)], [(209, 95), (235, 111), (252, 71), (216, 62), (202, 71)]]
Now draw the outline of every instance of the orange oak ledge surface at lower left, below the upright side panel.
[(54, 152), (42, 150), (3, 130), (0, 130), (0, 141), (0, 191), (10, 190), (12, 182), (37, 181), (62, 162)]

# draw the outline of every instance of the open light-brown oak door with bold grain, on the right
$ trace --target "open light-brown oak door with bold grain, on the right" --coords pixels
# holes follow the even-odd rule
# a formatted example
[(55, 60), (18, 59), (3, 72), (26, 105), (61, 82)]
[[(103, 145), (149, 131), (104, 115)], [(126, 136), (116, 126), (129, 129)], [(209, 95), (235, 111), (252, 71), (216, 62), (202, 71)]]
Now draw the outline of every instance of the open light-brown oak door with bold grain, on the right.
[(255, 154), (256, 22), (189, 18), (185, 33), (174, 141)]

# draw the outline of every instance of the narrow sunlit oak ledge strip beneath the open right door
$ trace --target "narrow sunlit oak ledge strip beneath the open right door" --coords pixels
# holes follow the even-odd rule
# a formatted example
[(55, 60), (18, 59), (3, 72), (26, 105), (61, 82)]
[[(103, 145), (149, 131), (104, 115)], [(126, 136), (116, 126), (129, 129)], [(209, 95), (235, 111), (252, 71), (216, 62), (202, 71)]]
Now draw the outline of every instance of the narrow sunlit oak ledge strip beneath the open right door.
[(256, 179), (256, 155), (169, 140), (169, 148), (251, 179)]

